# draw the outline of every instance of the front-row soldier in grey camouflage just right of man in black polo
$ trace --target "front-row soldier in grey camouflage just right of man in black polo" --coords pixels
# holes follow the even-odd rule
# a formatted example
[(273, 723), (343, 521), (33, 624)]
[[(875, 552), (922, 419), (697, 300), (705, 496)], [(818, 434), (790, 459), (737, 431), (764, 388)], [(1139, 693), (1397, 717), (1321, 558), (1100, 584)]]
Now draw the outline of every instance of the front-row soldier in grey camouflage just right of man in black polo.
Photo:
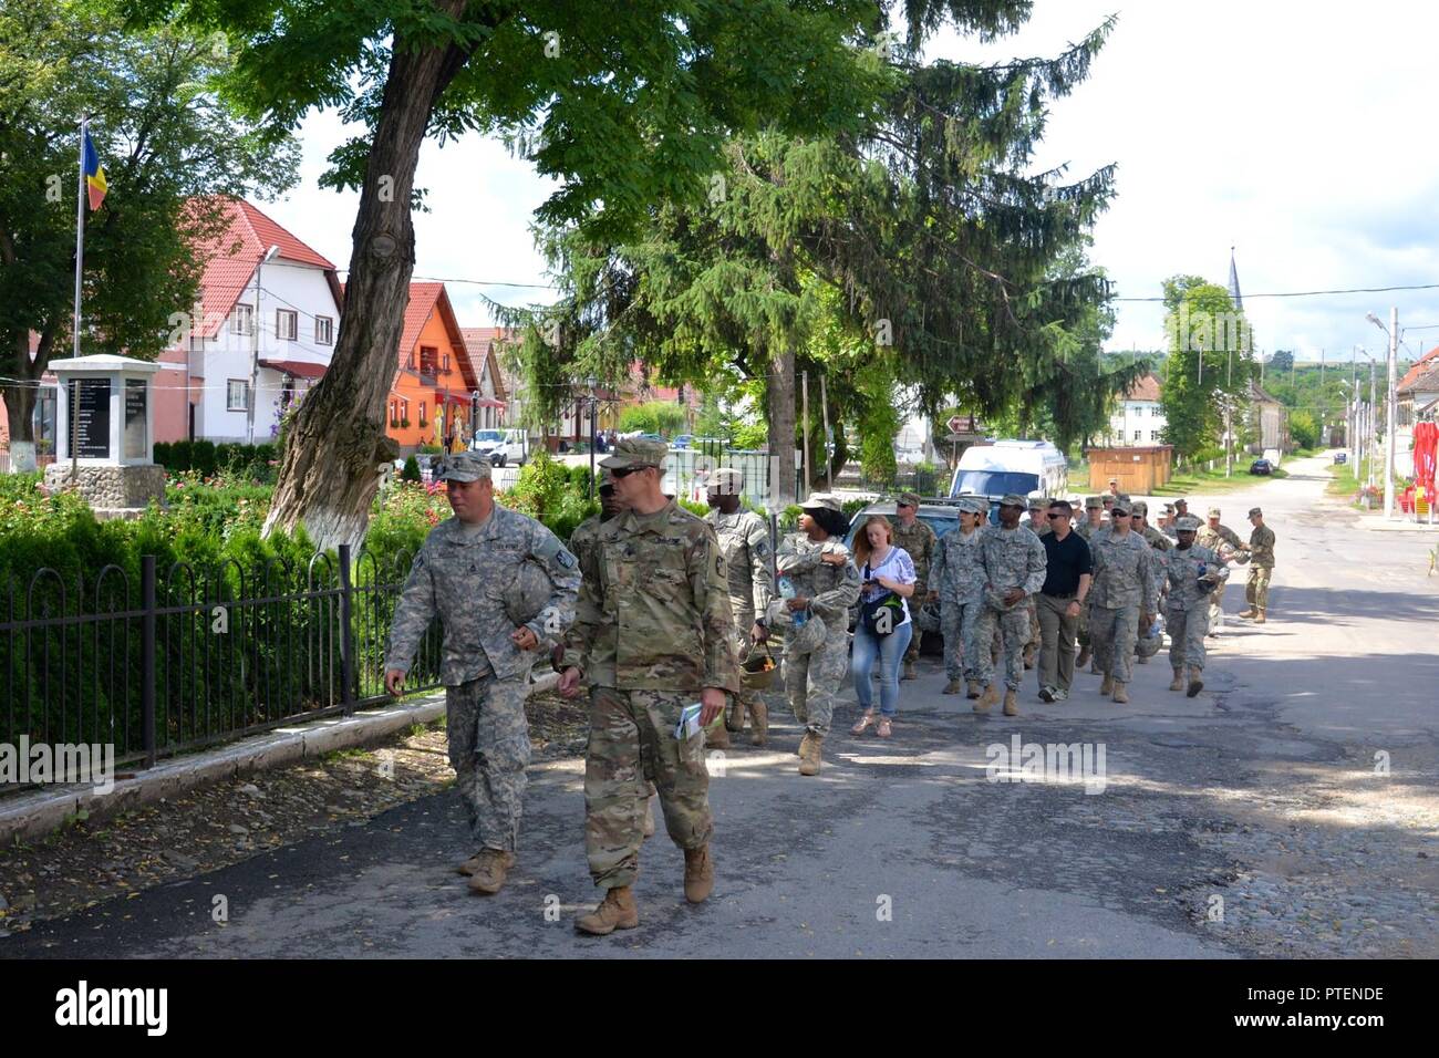
[(1127, 702), (1134, 638), (1141, 620), (1147, 623), (1156, 613), (1160, 589), (1154, 551), (1130, 528), (1128, 501), (1117, 499), (1112, 517), (1114, 527), (1097, 533), (1089, 546), (1094, 556), (1089, 635), (1104, 672), (1099, 694), (1112, 692), (1117, 702)]

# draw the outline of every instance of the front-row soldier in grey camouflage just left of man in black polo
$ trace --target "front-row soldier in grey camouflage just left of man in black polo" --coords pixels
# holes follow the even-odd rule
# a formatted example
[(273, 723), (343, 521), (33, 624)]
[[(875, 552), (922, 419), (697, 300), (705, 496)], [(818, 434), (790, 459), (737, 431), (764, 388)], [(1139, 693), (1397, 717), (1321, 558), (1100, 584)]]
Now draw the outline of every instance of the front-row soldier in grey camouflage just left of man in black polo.
[[(1004, 642), (1004, 715), (1019, 715), (1019, 687), (1025, 678), (1023, 651), (1029, 639), (1029, 607), (1026, 600), (1045, 586), (1045, 546), (1039, 537), (1019, 524), (1025, 498), (1009, 494), (999, 501), (999, 528), (984, 531), (980, 543), (984, 566), (984, 607), (974, 629), (977, 641), (990, 642), (996, 625)], [(999, 701), (994, 682), (994, 661), (980, 649), (980, 682), (984, 695), (974, 702), (976, 713), (989, 713)]]

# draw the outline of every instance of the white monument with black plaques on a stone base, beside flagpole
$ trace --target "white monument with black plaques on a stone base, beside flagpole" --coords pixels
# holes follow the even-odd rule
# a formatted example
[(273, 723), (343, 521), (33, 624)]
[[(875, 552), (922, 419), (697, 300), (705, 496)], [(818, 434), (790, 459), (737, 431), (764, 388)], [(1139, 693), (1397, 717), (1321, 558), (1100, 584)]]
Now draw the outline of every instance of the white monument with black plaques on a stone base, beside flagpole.
[[(52, 360), (59, 380), (50, 489), (78, 488), (96, 518), (137, 518), (164, 502), (165, 469), (154, 462), (150, 381), (160, 364), (131, 357)], [(72, 448), (73, 445), (73, 448)]]

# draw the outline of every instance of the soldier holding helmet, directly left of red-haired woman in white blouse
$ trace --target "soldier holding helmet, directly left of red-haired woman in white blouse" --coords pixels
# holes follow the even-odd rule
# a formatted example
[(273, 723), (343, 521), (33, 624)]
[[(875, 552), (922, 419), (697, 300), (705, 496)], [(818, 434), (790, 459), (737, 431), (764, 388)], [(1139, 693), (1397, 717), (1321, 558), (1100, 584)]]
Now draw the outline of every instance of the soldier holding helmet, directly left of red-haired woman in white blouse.
[[(849, 520), (839, 498), (813, 492), (800, 508), (800, 528), (784, 538), (777, 556), (780, 577), (789, 582), (781, 587), (793, 587), (794, 594), (776, 599), (771, 616), (786, 629), (784, 691), (804, 724), (800, 774), (819, 774), (835, 694), (849, 661), (849, 607), (859, 600), (861, 580), (845, 547)], [(796, 618), (802, 625), (796, 626)]]

